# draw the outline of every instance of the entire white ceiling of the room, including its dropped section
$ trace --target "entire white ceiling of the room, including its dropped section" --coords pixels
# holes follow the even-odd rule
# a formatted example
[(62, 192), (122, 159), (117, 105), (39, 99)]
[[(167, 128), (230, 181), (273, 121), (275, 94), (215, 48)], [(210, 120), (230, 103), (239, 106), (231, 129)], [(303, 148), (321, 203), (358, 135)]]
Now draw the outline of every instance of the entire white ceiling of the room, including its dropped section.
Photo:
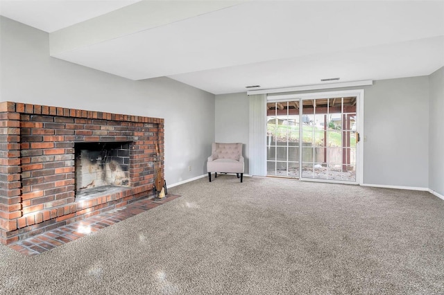
[(53, 57), (215, 94), (444, 66), (444, 1), (1, 0), (0, 8), (51, 33)]

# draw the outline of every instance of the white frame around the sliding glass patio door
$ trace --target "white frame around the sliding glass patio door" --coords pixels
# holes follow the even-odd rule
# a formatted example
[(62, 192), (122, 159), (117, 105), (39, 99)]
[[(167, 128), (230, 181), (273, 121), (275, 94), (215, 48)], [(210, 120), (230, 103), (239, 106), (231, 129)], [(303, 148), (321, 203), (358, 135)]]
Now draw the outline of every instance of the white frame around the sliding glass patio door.
[[(331, 182), (334, 184), (363, 184), (364, 181), (364, 89), (343, 90), (343, 91), (327, 91), (327, 92), (314, 92), (314, 93), (298, 93), (298, 94), (275, 94), (268, 95), (267, 102), (283, 102), (283, 101), (295, 101), (295, 100), (308, 100), (308, 99), (322, 99), (322, 98), (338, 98), (356, 96), (356, 131), (359, 134), (360, 141), (356, 145), (357, 151), (357, 173), (355, 181), (338, 181), (329, 179), (311, 179), (302, 177), (302, 171), (300, 170), (299, 179), (301, 181), (318, 181), (318, 182)], [(301, 104), (302, 105), (302, 104)], [(299, 108), (299, 117), (302, 118), (302, 107)], [(300, 128), (300, 133), (302, 127)], [(302, 134), (300, 134), (302, 138)], [(299, 165), (302, 166), (302, 150), (299, 152)]]

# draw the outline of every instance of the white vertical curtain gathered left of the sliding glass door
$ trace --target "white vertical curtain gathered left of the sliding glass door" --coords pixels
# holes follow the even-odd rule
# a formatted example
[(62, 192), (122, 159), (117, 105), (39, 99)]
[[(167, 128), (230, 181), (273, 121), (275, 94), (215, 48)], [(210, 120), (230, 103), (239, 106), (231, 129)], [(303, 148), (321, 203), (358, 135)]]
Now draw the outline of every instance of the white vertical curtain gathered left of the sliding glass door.
[(248, 174), (266, 176), (266, 94), (249, 96)]

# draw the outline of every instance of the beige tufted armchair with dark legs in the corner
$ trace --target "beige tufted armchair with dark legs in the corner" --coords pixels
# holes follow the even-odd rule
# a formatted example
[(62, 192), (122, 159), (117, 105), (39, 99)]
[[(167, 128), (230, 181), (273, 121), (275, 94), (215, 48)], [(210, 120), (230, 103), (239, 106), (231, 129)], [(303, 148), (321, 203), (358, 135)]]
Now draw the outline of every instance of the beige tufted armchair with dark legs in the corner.
[(212, 153), (207, 161), (208, 179), (211, 174), (236, 173), (237, 178), (244, 179), (244, 157), (242, 157), (242, 143), (213, 143)]

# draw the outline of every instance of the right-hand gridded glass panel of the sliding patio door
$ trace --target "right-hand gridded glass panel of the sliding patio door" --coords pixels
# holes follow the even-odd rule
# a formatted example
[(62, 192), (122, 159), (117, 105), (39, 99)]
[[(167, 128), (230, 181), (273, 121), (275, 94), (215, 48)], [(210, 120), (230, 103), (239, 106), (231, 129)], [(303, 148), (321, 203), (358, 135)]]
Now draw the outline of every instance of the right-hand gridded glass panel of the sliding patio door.
[(301, 102), (300, 177), (355, 181), (356, 98)]

